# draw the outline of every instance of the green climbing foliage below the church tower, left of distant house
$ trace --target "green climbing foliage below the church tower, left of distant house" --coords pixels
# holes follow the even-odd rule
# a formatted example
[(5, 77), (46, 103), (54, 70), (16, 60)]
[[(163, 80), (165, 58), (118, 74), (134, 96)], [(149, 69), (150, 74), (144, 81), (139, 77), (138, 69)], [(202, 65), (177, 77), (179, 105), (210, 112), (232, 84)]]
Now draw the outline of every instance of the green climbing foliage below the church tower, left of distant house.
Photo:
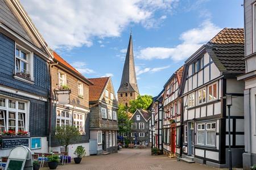
[(130, 133), (131, 131), (131, 121), (128, 118), (127, 109), (124, 105), (120, 104), (118, 106), (118, 128), (119, 133)]

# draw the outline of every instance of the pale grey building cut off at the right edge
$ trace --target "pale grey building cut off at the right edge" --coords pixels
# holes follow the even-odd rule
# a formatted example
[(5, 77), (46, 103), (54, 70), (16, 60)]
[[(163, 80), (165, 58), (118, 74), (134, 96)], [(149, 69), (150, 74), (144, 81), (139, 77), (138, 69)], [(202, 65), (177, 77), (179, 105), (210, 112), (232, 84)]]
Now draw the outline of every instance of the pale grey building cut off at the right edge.
[(245, 82), (245, 153), (243, 169), (250, 169), (256, 164), (256, 3), (253, 0), (243, 1), (245, 24), (245, 74), (238, 80)]

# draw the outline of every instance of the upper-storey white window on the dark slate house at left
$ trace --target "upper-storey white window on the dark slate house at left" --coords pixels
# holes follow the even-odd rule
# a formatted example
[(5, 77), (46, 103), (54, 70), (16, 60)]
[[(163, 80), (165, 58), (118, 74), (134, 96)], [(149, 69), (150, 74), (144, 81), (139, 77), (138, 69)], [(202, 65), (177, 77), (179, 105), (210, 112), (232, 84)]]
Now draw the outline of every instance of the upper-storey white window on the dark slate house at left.
[[(19, 56), (16, 56), (16, 49), (19, 50)], [(27, 54), (27, 59), (23, 59), (23, 58), (20, 57), (20, 54), (21, 54), (20, 51)], [(18, 73), (16, 71), (16, 58), (17, 58), (20, 61), (23, 61), (23, 62), (27, 63), (27, 73), (30, 74), (30, 80), (34, 81), (34, 53), (31, 52), (30, 50), (24, 48), (24, 46), (19, 45), (15, 42), (14, 56), (15, 56), (15, 61), (14, 61), (15, 62), (14, 63), (14, 65), (15, 65), (15, 69), (14, 69), (15, 75), (16, 75), (16, 73)], [(19, 76), (15, 76), (15, 78), (26, 81), (26, 79), (20, 78)]]

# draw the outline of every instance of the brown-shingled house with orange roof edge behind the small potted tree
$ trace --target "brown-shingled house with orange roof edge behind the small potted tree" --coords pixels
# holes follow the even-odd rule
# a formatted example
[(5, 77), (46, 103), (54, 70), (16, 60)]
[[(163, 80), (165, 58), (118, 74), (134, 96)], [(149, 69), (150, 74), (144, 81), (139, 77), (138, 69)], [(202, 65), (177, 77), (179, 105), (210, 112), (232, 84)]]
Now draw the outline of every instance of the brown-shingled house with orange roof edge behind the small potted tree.
[[(53, 52), (51, 73), (51, 142), (52, 151), (65, 151), (54, 138), (56, 126), (73, 125), (81, 138), (68, 146), (69, 156), (77, 146), (84, 146), (89, 155), (89, 86), (93, 83), (82, 76), (56, 52)], [(67, 99), (63, 101), (63, 99)]]

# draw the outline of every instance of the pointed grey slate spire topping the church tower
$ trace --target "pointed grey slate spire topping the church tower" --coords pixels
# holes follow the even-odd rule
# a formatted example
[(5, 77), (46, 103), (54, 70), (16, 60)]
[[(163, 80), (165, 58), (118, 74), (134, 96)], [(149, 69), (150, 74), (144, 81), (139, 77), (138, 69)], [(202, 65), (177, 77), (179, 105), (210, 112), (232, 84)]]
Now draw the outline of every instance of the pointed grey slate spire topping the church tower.
[(118, 92), (134, 91), (139, 94), (133, 56), (133, 39), (130, 35), (129, 45), (125, 58), (125, 65), (123, 66), (122, 80)]

